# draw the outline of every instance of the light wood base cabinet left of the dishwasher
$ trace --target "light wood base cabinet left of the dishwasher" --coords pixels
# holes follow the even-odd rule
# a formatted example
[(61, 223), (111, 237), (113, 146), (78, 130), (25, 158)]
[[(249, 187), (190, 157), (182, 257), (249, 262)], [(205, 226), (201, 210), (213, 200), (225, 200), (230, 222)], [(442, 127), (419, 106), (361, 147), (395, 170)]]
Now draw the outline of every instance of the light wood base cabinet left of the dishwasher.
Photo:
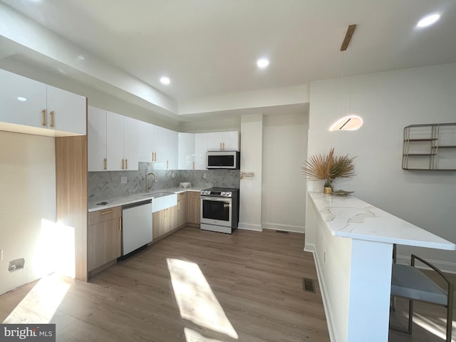
[(122, 211), (120, 207), (88, 215), (88, 271), (107, 264), (122, 254)]

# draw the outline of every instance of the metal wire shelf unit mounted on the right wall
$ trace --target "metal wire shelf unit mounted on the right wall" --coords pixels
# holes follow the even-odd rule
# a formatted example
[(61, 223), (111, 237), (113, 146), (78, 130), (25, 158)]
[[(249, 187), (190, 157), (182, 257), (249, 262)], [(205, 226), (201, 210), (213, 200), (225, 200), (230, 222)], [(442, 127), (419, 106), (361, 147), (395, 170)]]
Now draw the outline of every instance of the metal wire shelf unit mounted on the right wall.
[(402, 168), (456, 171), (456, 123), (405, 127)]

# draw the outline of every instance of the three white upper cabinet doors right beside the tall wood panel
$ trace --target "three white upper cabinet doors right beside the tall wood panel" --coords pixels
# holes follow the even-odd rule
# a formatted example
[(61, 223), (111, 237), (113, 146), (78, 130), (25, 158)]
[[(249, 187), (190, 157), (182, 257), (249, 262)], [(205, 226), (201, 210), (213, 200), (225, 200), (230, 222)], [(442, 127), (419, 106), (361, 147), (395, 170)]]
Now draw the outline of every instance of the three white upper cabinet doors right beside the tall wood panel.
[(138, 170), (138, 120), (89, 106), (88, 170)]

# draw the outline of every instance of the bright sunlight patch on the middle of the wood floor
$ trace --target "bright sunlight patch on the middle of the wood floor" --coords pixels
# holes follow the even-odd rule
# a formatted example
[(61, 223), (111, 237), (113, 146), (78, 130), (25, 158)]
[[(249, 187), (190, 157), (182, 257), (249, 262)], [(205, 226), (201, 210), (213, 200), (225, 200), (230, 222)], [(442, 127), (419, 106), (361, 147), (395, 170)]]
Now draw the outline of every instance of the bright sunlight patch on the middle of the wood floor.
[(238, 338), (199, 266), (178, 259), (167, 259), (167, 264), (180, 316), (204, 328)]

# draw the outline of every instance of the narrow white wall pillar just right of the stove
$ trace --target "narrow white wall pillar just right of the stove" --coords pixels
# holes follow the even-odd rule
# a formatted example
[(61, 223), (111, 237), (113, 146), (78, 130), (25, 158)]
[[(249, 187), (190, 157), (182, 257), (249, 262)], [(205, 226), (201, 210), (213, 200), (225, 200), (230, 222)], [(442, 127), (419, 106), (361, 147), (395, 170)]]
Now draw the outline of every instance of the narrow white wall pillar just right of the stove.
[(241, 118), (241, 172), (252, 172), (239, 187), (239, 228), (261, 231), (261, 150), (263, 115), (249, 114)]

